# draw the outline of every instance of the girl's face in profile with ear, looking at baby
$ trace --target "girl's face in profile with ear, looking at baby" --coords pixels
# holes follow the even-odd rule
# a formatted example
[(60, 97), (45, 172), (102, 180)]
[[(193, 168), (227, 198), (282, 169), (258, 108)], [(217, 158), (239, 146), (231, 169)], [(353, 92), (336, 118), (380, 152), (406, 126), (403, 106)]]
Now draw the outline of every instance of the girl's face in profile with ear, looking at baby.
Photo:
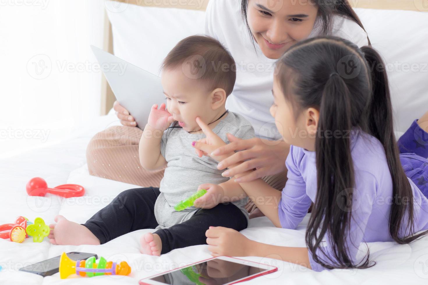
[(287, 144), (315, 151), (318, 110), (302, 109), (296, 118), (293, 105), (285, 99), (277, 77), (273, 76), (273, 105), (270, 107), (270, 115), (275, 118), (276, 128)]

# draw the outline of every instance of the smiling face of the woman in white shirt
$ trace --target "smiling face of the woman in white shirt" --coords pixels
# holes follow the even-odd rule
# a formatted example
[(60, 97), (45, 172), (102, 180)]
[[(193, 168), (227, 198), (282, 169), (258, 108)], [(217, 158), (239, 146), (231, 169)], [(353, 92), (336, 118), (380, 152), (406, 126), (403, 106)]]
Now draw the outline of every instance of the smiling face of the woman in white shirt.
[(279, 59), (292, 45), (308, 38), (317, 14), (312, 0), (248, 0), (248, 25), (269, 59)]

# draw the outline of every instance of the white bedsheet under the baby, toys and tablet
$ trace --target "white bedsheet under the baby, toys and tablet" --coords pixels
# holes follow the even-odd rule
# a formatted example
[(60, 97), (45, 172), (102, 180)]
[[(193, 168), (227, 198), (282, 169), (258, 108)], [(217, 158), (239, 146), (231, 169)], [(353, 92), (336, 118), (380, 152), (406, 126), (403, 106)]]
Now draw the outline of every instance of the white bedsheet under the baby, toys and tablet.
[[(98, 209), (107, 205), (119, 192), (138, 187), (122, 182), (90, 176), (87, 171), (85, 149), (92, 135), (115, 124), (114, 115), (98, 118), (90, 127), (75, 132), (73, 138), (55, 146), (0, 161), (0, 224), (12, 223), (19, 215), (34, 220), (42, 217), (53, 223), (56, 214), (78, 223), (85, 222)], [(46, 197), (29, 197), (25, 191), (28, 180), (41, 176), (49, 186), (75, 183), (86, 188), (83, 197), (62, 199), (48, 194)], [(265, 218), (251, 220), (250, 227), (242, 231), (248, 238), (268, 244), (303, 247), (308, 217), (297, 230), (277, 229)], [(138, 280), (155, 273), (209, 258), (206, 245), (173, 250), (160, 257), (139, 252), (140, 230), (123, 235), (100, 246), (57, 246), (47, 238), (33, 243), (27, 238), (22, 244), (0, 239), (0, 284), (138, 284)], [(279, 267), (277, 273), (253, 279), (249, 284), (426, 284), (428, 282), (428, 238), (410, 245), (392, 242), (369, 243), (375, 267), (365, 270), (331, 270), (314, 272), (296, 264), (282, 262), (276, 256), (249, 257)], [(59, 274), (41, 277), (18, 271), (20, 267), (60, 255), (63, 251), (96, 253), (109, 259), (127, 261), (132, 267), (130, 276), (77, 277), (61, 280)], [(116, 280), (120, 279), (120, 280)]]

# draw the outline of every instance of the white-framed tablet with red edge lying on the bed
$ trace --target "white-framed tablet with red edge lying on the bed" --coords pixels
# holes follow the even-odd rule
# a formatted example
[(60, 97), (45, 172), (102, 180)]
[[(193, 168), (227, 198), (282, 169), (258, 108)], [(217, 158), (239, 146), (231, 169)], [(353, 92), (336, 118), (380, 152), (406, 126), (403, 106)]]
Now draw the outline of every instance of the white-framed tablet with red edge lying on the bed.
[(139, 283), (140, 285), (235, 284), (276, 270), (278, 267), (268, 264), (218, 256), (141, 279)]

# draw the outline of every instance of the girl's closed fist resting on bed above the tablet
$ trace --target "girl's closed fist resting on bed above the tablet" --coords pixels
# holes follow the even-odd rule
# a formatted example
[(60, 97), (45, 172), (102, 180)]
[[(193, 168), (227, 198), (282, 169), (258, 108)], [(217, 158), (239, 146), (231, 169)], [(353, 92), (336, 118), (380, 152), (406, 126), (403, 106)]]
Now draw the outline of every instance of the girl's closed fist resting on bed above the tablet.
[(212, 256), (251, 256), (253, 241), (234, 229), (210, 226), (205, 235)]

